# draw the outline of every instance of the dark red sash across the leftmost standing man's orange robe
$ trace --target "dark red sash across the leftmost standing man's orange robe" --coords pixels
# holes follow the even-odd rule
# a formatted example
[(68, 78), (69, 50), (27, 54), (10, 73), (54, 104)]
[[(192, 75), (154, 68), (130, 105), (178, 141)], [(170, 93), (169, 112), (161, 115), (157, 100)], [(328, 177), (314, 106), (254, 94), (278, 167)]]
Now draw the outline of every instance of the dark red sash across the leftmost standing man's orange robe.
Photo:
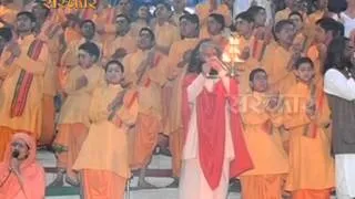
[[(34, 40), (27, 53), (27, 55), (37, 61), (41, 54), (43, 42), (40, 40)], [(10, 117), (20, 117), (23, 114), (24, 106), (27, 104), (28, 94), (31, 88), (33, 80), (33, 74), (27, 72), (26, 70), (21, 70), (20, 76), (18, 78), (14, 94), (11, 103)]]

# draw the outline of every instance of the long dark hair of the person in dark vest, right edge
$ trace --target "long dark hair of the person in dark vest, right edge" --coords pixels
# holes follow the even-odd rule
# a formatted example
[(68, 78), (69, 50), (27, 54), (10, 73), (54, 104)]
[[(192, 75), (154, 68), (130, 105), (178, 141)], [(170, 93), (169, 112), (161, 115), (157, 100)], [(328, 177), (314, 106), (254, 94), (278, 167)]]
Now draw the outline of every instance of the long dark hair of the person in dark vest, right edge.
[(349, 40), (344, 36), (335, 38), (331, 42), (323, 69), (324, 74), (329, 69), (337, 69), (342, 71), (345, 67), (351, 67), (351, 60), (344, 54), (347, 42), (349, 42)]

